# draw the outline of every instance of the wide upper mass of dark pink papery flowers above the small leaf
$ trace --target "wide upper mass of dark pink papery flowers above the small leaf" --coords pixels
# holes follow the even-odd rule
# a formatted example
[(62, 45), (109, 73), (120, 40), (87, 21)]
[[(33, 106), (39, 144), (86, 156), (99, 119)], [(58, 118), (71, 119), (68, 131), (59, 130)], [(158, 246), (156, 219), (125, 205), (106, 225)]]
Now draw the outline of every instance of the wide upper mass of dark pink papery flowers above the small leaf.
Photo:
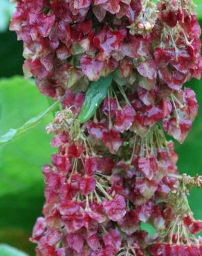
[(18, 1), (10, 28), (24, 41), (26, 76), (45, 95), (85, 91), (89, 80), (116, 70), (118, 86), (136, 93), (136, 115), (128, 110), (135, 130), (163, 120), (180, 142), (190, 131), (197, 103), (181, 87), (202, 71), (201, 29), (190, 1), (160, 1), (158, 10), (150, 0)]

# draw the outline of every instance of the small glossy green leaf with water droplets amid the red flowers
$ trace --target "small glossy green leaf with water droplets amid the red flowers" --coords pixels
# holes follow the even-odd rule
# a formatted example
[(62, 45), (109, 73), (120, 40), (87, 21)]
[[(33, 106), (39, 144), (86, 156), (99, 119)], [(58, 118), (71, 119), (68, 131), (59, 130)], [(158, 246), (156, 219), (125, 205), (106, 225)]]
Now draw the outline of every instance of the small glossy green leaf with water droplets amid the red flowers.
[(97, 82), (91, 82), (89, 90), (86, 92), (86, 98), (80, 112), (80, 122), (87, 122), (98, 109), (102, 100), (107, 95), (109, 86), (111, 86), (112, 76), (100, 77)]

